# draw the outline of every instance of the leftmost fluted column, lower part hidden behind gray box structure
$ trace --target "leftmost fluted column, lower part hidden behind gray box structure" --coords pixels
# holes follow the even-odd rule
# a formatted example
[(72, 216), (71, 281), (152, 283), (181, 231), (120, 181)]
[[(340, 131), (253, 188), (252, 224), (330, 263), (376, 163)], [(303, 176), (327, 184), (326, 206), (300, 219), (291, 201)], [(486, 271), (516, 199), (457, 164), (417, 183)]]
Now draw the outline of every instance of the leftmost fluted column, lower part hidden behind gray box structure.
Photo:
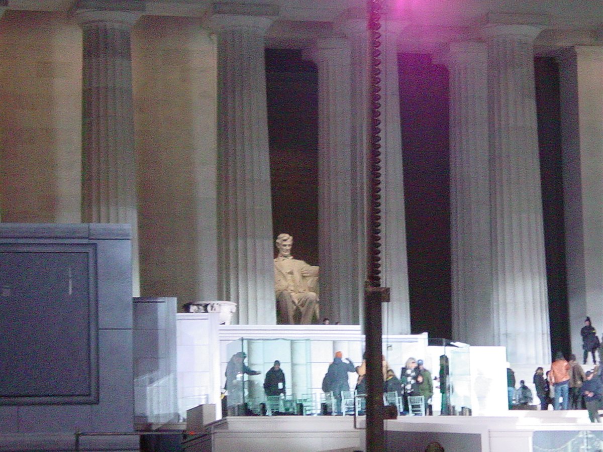
[(144, 8), (136, 0), (80, 0), (72, 11), (83, 29), (82, 221), (131, 225), (134, 297), (140, 284), (130, 30)]

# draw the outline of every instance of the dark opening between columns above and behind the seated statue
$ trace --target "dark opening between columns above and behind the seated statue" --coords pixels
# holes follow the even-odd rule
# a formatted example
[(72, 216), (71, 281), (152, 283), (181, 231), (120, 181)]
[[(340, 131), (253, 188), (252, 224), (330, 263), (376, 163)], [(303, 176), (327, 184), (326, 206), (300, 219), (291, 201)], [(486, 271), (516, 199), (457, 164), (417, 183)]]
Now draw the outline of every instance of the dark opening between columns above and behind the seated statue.
[[(301, 51), (266, 50), (273, 235), (318, 265), (318, 74)], [(276, 248), (275, 248), (276, 255)]]

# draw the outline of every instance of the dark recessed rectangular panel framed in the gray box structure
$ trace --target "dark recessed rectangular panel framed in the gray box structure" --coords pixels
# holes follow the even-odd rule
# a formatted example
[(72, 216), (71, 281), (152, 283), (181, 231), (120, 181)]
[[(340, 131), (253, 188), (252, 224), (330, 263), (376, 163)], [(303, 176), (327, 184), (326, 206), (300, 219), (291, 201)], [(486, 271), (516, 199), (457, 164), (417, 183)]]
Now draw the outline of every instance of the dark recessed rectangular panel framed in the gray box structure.
[(0, 404), (96, 403), (96, 246), (0, 244)]

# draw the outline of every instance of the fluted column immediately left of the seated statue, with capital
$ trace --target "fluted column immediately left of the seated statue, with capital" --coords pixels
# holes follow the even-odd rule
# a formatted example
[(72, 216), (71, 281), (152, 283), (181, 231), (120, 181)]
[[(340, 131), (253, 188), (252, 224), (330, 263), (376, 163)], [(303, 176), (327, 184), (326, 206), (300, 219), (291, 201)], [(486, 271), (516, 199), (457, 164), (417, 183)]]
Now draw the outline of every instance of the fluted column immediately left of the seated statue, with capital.
[(277, 11), (215, 4), (218, 290), (239, 324), (276, 324), (264, 39)]

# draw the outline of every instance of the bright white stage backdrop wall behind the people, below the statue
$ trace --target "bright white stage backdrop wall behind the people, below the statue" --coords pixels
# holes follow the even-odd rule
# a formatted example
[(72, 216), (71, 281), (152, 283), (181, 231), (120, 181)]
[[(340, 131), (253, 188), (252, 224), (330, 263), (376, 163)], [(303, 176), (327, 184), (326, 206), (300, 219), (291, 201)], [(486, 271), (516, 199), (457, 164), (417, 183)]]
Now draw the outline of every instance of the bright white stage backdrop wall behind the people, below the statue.
[[(470, 407), (473, 415), (493, 415), (507, 406), (507, 361), (504, 347), (435, 347), (428, 335), (408, 334), (383, 337), (383, 353), (396, 375), (408, 357), (423, 359), (432, 377), (439, 375), (440, 355), (450, 358), (450, 399), (457, 411)], [(235, 348), (233, 348), (235, 347)], [(236, 348), (238, 347), (238, 348)], [(177, 314), (178, 412), (201, 404), (216, 405), (221, 418), (220, 391), (224, 387), (226, 364), (235, 351), (247, 352), (247, 364), (262, 372), (245, 377), (250, 400), (263, 395), (265, 372), (274, 360), (281, 362), (287, 394), (317, 394), (335, 351), (342, 351), (356, 365), (362, 362), (364, 335), (358, 325), (219, 325), (218, 314)], [(295, 369), (295, 372), (294, 372)], [(350, 373), (354, 388), (358, 375)], [(529, 380), (531, 381), (531, 380)], [(435, 382), (434, 382), (435, 383)], [(441, 395), (434, 384), (434, 410)]]

